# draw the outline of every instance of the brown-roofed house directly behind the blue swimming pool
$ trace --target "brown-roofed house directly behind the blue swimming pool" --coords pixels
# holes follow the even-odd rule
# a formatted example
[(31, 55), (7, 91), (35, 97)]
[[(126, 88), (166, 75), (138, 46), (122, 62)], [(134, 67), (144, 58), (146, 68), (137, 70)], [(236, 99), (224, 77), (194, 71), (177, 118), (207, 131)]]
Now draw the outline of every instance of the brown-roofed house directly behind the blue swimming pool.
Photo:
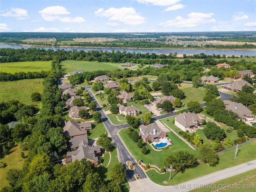
[(146, 126), (143, 124), (140, 125), (139, 135), (142, 137), (145, 143), (147, 143), (148, 140), (154, 141), (161, 138), (166, 138), (166, 133), (154, 123), (148, 124)]

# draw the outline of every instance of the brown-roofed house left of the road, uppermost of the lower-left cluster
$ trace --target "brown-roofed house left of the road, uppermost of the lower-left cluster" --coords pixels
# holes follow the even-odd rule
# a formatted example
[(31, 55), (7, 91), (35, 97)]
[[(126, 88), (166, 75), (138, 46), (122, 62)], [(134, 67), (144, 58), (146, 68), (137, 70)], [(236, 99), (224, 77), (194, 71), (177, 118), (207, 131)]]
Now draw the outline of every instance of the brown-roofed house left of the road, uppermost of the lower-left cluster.
[(68, 121), (65, 122), (65, 126), (63, 127), (63, 135), (70, 135), (73, 137), (81, 137), (87, 136), (87, 130), (92, 129), (91, 122), (77, 122), (77, 121)]

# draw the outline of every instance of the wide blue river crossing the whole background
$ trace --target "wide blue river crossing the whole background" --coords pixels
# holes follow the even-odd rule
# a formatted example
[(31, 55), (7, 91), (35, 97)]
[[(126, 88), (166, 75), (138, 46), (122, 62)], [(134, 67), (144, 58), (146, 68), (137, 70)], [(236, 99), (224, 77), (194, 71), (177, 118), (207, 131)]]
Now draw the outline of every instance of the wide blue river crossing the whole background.
[(169, 54), (170, 52), (174, 53), (177, 52), (178, 54), (200, 54), (204, 53), (206, 55), (226, 55), (226, 56), (256, 56), (256, 51), (255, 50), (206, 50), (206, 49), (134, 49), (134, 48), (74, 48), (74, 47), (47, 47), (47, 46), (22, 46), (22, 45), (14, 45), (14, 44), (0, 44), (0, 48), (12, 48), (12, 49), (27, 49), (31, 47), (36, 47), (36, 48), (44, 48), (46, 50), (52, 49), (56, 51), (57, 49), (64, 49), (66, 51), (73, 51), (74, 49), (80, 51), (84, 50), (89, 51), (89, 50), (102, 50), (103, 52), (108, 51), (112, 52), (114, 50), (115, 52), (119, 50), (120, 52), (135, 52), (135, 53), (142, 53), (146, 54), (147, 52), (149, 53), (155, 53), (155, 54)]

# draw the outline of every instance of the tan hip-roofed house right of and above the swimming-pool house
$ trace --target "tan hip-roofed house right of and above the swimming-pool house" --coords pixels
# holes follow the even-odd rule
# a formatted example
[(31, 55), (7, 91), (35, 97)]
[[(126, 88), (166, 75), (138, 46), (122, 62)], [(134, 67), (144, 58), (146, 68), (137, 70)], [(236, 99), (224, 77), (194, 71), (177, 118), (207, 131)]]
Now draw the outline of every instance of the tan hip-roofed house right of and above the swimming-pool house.
[(185, 128), (202, 122), (202, 120), (195, 113), (190, 112), (178, 114), (175, 118), (175, 121), (184, 126)]

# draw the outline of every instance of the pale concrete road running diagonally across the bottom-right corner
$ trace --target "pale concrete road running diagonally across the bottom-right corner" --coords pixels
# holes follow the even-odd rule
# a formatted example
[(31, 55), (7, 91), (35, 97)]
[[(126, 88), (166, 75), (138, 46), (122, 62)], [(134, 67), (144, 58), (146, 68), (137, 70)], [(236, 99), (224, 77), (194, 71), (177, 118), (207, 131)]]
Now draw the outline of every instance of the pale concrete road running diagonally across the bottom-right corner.
[[(256, 160), (240, 164), (231, 168), (227, 168), (206, 176), (202, 176), (188, 182), (177, 184), (174, 186), (160, 186), (153, 183), (149, 178), (130, 182), (130, 192), (149, 192), (149, 191), (161, 191), (161, 192), (187, 192), (195, 188), (207, 188), (208, 191), (214, 191), (218, 189), (218, 186), (209, 185), (219, 180), (229, 178), (231, 176), (241, 174), (243, 172), (256, 169)], [(242, 179), (242, 178), (241, 178)], [(229, 183), (228, 183), (229, 184)], [(242, 185), (241, 185), (242, 186)], [(244, 190), (246, 191), (246, 190)]]

